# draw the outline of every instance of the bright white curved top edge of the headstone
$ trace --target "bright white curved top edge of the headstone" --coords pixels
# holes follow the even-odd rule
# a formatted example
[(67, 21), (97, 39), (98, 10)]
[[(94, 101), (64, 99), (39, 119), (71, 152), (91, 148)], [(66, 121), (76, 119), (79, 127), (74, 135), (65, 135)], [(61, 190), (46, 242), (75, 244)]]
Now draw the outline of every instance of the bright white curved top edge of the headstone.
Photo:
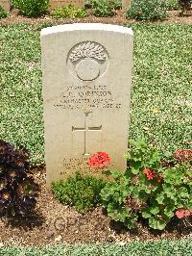
[(119, 26), (119, 25), (111, 25), (111, 24), (103, 24), (103, 23), (73, 23), (73, 24), (64, 24), (53, 27), (44, 28), (41, 30), (41, 37), (47, 36), (50, 34), (67, 32), (67, 31), (106, 31), (106, 32), (115, 32), (121, 33), (128, 36), (133, 36), (133, 32), (131, 28)]

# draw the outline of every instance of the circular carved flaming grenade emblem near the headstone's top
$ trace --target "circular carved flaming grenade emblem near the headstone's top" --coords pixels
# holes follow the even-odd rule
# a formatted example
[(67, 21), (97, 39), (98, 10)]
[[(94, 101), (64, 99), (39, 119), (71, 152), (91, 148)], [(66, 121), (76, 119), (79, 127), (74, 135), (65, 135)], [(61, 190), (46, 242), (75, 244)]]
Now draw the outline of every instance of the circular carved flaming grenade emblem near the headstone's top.
[(108, 69), (108, 52), (103, 45), (94, 41), (83, 41), (68, 53), (69, 72), (82, 81), (93, 81)]

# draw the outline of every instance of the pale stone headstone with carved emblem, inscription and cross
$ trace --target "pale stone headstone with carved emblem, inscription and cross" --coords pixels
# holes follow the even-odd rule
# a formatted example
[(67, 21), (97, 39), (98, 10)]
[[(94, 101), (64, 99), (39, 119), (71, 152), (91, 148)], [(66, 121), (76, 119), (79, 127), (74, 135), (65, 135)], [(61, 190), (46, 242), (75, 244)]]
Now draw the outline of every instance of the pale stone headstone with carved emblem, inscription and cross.
[[(41, 31), (47, 184), (109, 154), (124, 170), (132, 84), (132, 29), (70, 24)], [(98, 171), (91, 174), (101, 175)]]

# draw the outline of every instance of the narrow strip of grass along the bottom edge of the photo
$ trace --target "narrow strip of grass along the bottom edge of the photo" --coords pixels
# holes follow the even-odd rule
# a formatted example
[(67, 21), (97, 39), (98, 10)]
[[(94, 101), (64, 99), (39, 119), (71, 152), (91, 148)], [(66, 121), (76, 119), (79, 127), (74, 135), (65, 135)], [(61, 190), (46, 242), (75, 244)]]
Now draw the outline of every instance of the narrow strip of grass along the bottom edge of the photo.
[(57, 247), (8, 247), (0, 249), (0, 256), (58, 256), (58, 255), (105, 255), (105, 256), (190, 256), (192, 243), (188, 240), (181, 241), (160, 241), (151, 243), (117, 243), (96, 245), (96, 244), (77, 244), (74, 246)]

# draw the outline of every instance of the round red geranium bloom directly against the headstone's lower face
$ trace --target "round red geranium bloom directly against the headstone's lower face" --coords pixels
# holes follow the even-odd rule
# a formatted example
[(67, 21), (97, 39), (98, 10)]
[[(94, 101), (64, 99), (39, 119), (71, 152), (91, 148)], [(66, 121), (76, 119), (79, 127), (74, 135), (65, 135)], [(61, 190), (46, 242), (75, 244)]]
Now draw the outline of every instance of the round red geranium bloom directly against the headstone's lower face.
[(97, 152), (88, 159), (88, 166), (91, 168), (103, 168), (110, 163), (110, 157), (106, 152)]

